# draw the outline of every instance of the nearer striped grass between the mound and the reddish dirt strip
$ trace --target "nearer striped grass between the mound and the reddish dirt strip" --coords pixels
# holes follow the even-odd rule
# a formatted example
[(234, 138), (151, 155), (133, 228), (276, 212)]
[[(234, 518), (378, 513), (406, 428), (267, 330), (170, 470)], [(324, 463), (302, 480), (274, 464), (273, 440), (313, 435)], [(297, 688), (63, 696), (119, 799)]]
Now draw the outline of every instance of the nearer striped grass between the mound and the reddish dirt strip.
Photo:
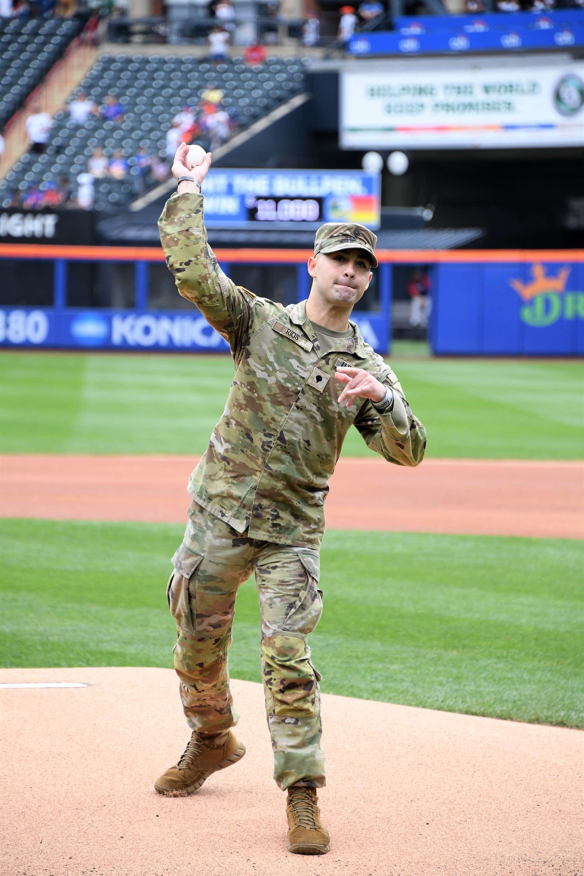
[[(0, 521), (4, 667), (172, 667), (165, 582), (182, 526)], [(329, 531), (310, 637), (327, 693), (584, 725), (584, 544)], [(260, 681), (253, 581), (236, 678)]]

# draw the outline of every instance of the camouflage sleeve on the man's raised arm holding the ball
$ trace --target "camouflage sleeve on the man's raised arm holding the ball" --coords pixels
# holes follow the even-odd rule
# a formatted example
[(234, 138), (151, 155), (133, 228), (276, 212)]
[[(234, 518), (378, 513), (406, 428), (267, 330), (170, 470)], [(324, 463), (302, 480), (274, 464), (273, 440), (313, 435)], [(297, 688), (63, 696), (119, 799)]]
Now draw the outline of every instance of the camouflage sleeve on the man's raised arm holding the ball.
[(203, 224), (202, 194), (172, 194), (158, 230), (179, 294), (196, 304), (235, 357), (250, 329), (255, 296), (236, 286), (217, 264)]

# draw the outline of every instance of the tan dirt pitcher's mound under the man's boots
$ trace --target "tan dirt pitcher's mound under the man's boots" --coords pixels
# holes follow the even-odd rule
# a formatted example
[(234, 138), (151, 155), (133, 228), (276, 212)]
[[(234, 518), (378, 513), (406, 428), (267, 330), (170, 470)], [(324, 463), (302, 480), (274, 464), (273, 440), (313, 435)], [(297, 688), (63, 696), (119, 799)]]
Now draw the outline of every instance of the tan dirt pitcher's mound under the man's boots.
[(188, 738), (171, 670), (0, 681), (92, 685), (0, 689), (7, 876), (582, 873), (580, 731), (324, 696), (331, 851), (301, 858), (285, 849), (259, 684), (233, 682), (241, 763), (169, 799), (152, 782)]

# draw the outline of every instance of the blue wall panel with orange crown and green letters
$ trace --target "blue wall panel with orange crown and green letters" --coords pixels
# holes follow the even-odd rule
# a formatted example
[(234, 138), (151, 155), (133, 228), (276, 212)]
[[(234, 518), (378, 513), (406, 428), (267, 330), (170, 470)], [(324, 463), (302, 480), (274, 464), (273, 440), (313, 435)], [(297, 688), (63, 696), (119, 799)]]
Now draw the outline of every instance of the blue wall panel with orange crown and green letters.
[(439, 265), (432, 346), (437, 355), (584, 353), (580, 263)]

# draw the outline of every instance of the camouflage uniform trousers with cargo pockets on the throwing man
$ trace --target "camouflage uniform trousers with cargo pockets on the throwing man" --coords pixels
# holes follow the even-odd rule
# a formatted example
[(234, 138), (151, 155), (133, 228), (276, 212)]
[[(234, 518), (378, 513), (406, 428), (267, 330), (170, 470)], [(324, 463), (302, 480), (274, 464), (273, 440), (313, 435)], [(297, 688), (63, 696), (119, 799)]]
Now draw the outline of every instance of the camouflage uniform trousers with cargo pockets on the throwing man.
[(174, 668), (186, 720), (203, 734), (237, 722), (227, 653), (237, 588), (255, 572), (274, 779), (282, 789), (321, 788), (320, 675), (306, 643), (322, 613), (319, 552), (246, 538), (196, 502), (188, 517), (167, 587), (177, 624)]

